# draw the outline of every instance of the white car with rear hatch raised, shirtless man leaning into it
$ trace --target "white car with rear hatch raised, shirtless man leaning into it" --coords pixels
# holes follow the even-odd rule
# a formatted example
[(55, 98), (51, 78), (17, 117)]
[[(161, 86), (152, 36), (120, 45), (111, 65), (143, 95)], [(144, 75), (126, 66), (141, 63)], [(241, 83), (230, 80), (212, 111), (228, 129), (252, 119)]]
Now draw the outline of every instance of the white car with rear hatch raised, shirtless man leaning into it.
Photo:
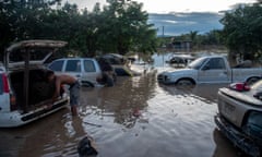
[(20, 126), (68, 105), (61, 95), (52, 102), (55, 85), (48, 83), (44, 65), (66, 41), (24, 40), (10, 46), (0, 65), (0, 128)]

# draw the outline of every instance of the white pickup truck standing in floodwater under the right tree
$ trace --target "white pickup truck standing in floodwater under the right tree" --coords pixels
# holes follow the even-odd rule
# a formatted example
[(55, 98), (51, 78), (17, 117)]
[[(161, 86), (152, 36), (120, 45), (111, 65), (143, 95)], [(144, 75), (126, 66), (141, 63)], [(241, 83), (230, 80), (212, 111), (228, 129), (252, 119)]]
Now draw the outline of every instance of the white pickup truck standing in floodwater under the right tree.
[(226, 57), (207, 56), (192, 61), (186, 69), (165, 71), (157, 75), (163, 84), (194, 85), (201, 83), (247, 82), (262, 76), (262, 68), (230, 68)]

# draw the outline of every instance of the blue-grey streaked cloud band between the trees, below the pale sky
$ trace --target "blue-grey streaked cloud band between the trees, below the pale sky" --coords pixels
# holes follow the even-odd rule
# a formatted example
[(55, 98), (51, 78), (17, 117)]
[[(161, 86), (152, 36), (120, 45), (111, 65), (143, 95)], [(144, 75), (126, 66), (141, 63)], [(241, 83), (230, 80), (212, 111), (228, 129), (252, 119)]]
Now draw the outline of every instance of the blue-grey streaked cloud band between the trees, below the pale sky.
[(157, 35), (180, 35), (190, 31), (198, 31), (199, 34), (207, 33), (212, 29), (222, 29), (223, 25), (219, 20), (223, 14), (218, 13), (168, 13), (168, 14), (150, 14), (148, 23), (158, 28)]

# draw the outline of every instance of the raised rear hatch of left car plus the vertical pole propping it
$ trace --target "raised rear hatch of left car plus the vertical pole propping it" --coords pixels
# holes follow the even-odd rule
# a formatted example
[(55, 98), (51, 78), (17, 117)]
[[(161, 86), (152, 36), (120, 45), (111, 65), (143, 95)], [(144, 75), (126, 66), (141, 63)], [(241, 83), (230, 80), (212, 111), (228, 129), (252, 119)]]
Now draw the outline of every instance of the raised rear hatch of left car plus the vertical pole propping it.
[(61, 47), (67, 45), (60, 40), (24, 40), (11, 45), (4, 56), (7, 71), (23, 70), (23, 111), (28, 111), (29, 105), (29, 69), (43, 63)]

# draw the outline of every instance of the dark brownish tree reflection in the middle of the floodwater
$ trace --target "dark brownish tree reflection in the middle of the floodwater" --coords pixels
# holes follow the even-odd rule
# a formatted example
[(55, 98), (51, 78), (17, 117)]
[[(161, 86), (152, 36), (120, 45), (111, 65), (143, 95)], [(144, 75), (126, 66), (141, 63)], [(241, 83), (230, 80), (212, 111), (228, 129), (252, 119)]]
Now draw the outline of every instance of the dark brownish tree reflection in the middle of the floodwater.
[[(97, 114), (102, 120), (111, 117), (115, 123), (133, 128), (138, 120), (144, 121), (141, 118), (146, 112), (147, 100), (154, 96), (155, 87), (155, 73), (120, 78), (115, 87), (94, 89), (92, 96), (82, 100), (81, 112), (83, 116)], [(85, 92), (88, 89), (83, 89), (82, 97), (90, 95)]]

